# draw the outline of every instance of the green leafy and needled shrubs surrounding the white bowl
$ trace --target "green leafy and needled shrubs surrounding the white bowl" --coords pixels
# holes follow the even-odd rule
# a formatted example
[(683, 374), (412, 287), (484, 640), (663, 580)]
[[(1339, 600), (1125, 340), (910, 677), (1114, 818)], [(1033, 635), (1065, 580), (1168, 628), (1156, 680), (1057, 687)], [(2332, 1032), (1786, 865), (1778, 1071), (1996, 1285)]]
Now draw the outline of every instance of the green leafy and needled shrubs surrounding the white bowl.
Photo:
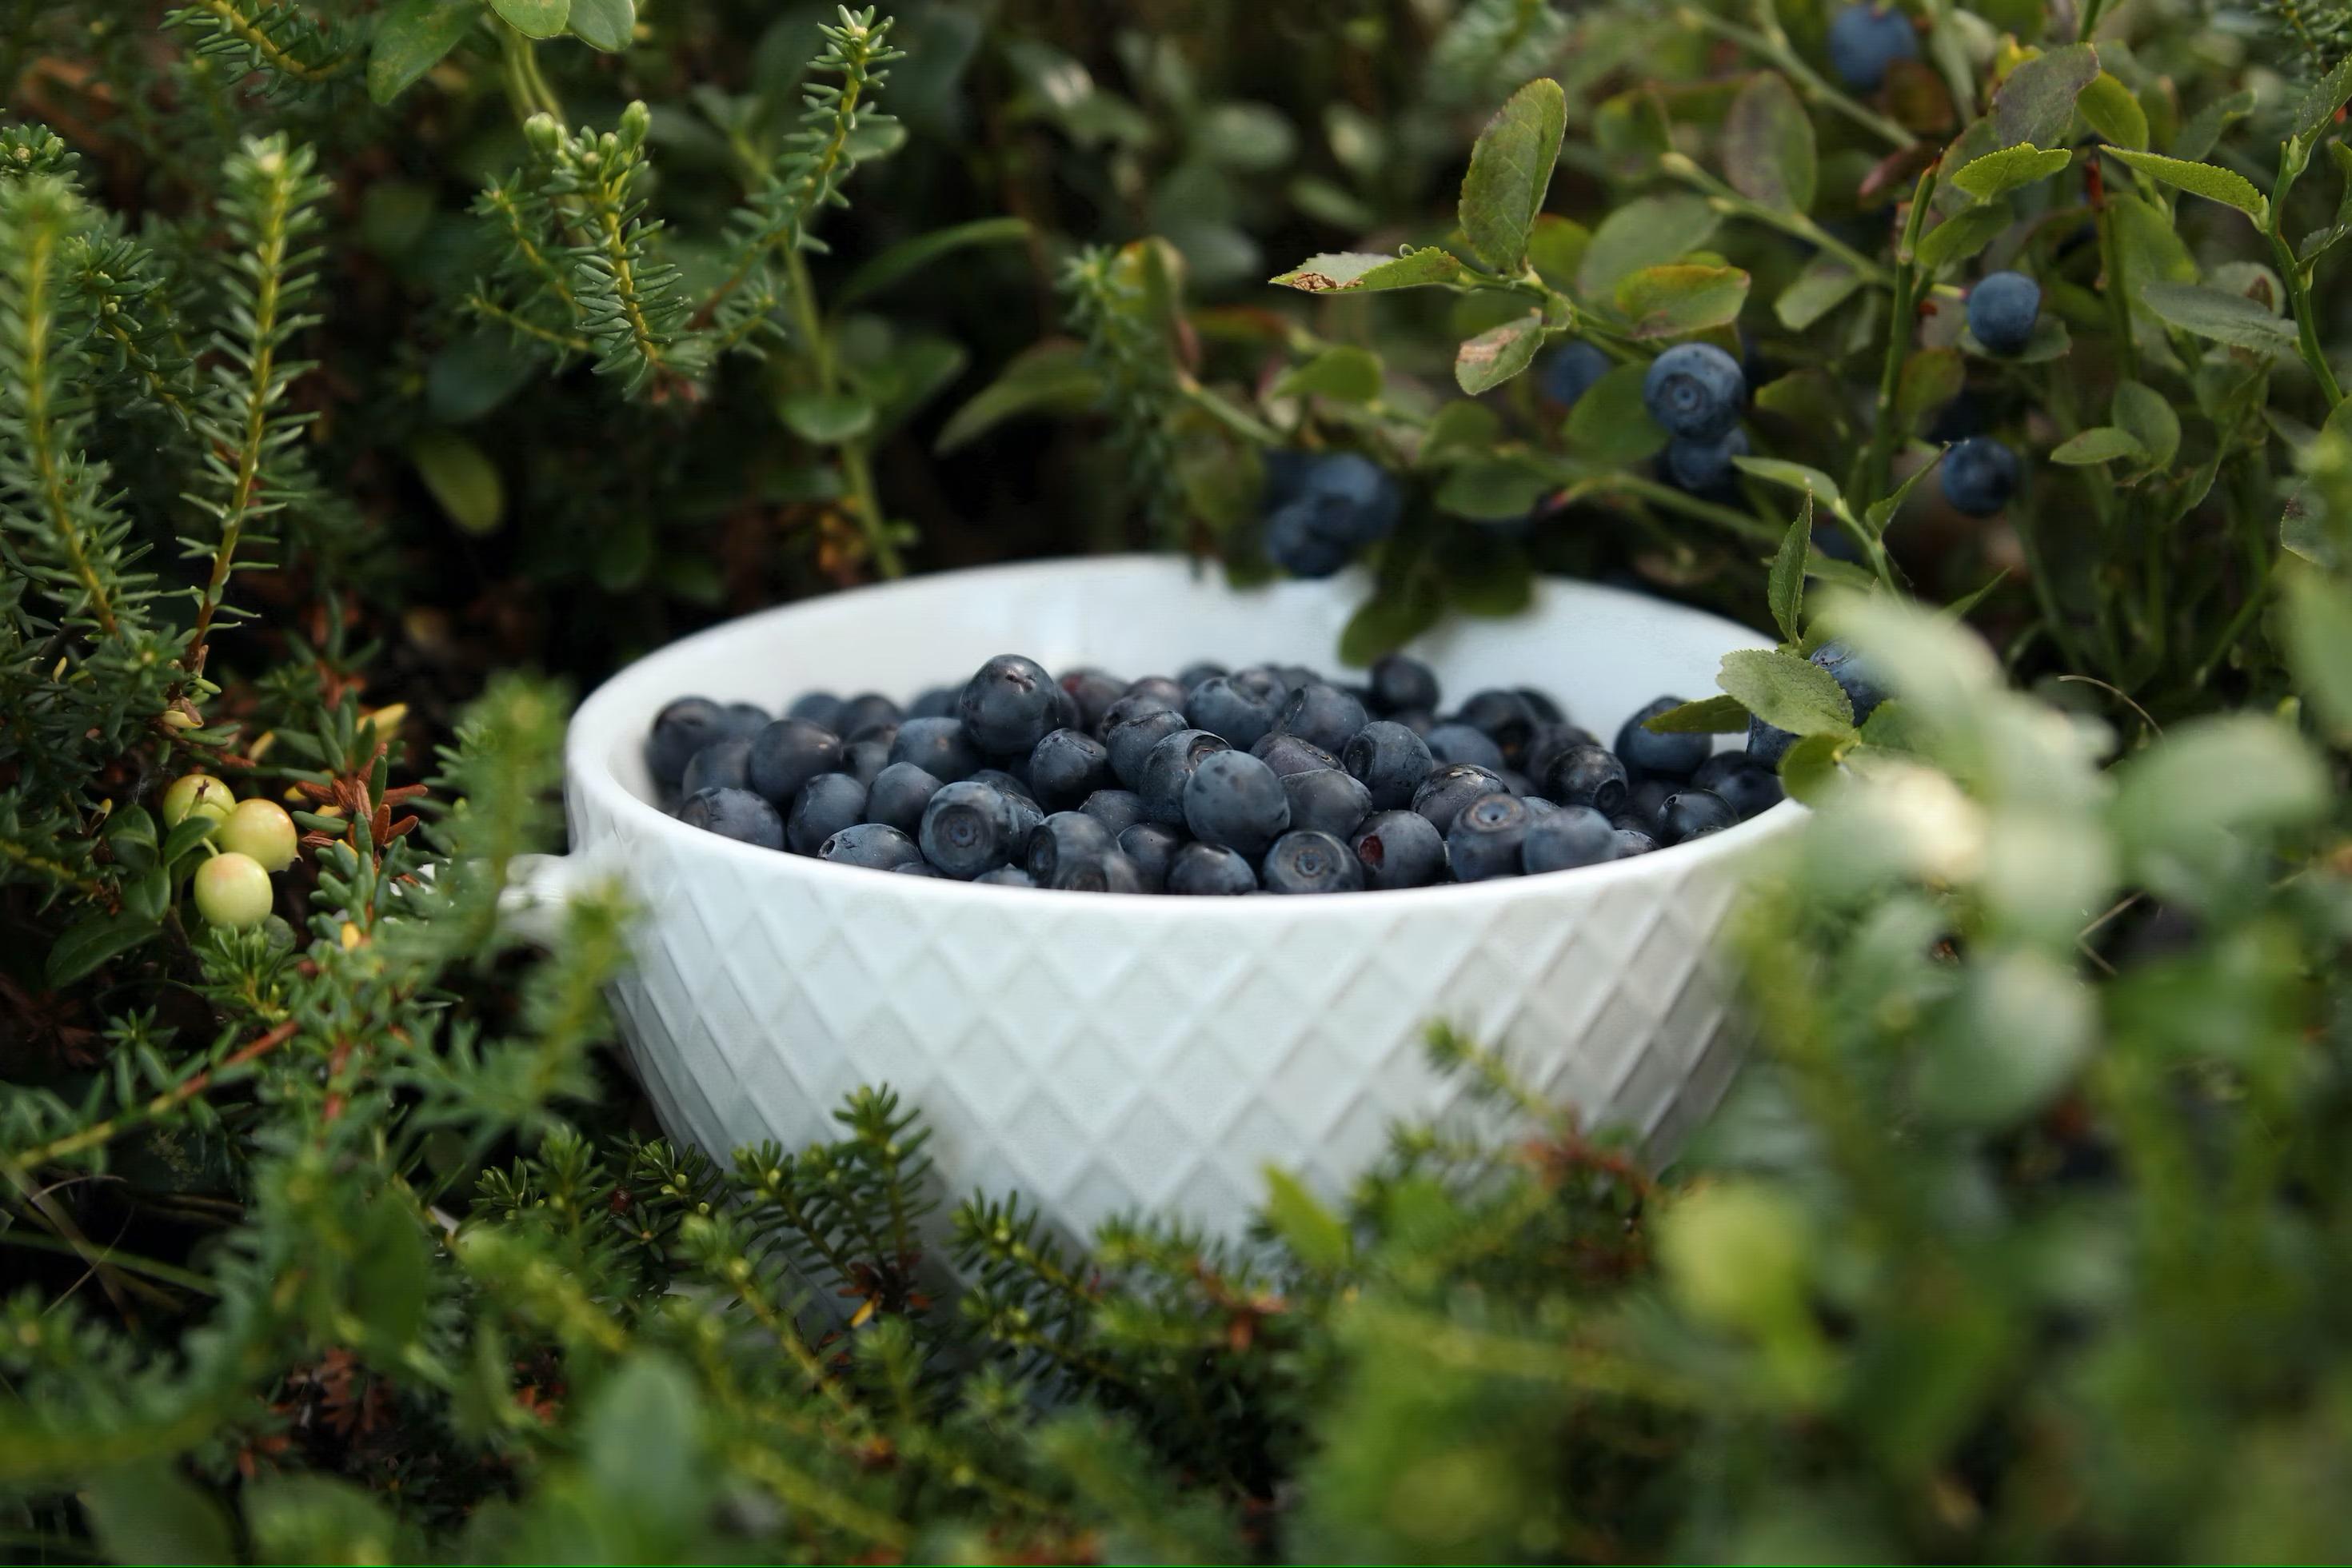
[[(12, 1556), (2343, 1556), (2352, 9), (19, 0), (0, 80)], [(880, 1084), (659, 1135), (626, 907), (499, 922), (569, 693), (1136, 545), (1357, 567), (1350, 665), (1766, 628), (1613, 748), (1813, 806), (1686, 1159), (1444, 1030), (1503, 1131), (1254, 1246)]]

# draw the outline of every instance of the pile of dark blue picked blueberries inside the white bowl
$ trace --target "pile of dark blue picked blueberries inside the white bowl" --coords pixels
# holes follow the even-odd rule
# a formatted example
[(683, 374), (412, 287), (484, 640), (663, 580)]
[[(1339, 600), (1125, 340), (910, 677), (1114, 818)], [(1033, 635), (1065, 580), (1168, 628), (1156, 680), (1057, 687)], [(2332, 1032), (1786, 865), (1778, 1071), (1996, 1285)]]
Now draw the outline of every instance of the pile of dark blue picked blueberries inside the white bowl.
[(680, 698), (644, 757), (684, 823), (842, 865), (1089, 893), (1352, 893), (1621, 860), (1780, 799), (1759, 755), (1644, 729), (1677, 703), (1625, 719), (1611, 750), (1524, 686), (1439, 717), (1437, 677), (1404, 656), (1350, 686), (1214, 663), (1054, 679), (1002, 654), (906, 710), (814, 691), (769, 719)]

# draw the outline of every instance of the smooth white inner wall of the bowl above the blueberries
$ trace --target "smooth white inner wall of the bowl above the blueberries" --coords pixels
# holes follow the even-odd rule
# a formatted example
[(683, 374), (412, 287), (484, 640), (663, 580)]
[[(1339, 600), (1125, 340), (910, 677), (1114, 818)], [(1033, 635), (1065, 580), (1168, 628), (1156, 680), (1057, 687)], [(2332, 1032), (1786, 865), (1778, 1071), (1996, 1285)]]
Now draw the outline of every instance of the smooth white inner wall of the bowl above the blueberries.
[[(788, 604), (710, 628), (616, 675), (574, 722), (574, 764), (600, 764), (654, 799), (642, 741), (663, 703), (708, 696), (781, 712), (802, 691), (880, 691), (901, 703), (962, 684), (993, 654), (1028, 654), (1056, 675), (1174, 675), (1195, 661), (1303, 663), (1341, 677), (1338, 637), (1367, 581), (1230, 588), (1216, 567), (1115, 555), (950, 571)], [(1482, 686), (1536, 686), (1602, 736), (1658, 696), (1715, 691), (1733, 649), (1769, 646), (1745, 625), (1646, 595), (1545, 578), (1526, 614), (1454, 616), (1409, 651), (1449, 705)]]

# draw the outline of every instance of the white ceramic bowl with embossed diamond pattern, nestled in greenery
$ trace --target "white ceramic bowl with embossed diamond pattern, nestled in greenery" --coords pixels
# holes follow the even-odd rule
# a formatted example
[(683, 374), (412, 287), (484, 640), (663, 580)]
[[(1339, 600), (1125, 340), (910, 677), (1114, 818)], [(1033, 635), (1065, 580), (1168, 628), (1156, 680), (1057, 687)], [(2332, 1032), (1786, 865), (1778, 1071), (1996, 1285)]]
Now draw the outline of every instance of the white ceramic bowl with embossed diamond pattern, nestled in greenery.
[[(1098, 557), (866, 588), (687, 637), (572, 719), (574, 853), (527, 900), (616, 872), (642, 912), (614, 987), (663, 1126), (717, 1157), (835, 1133), (887, 1081), (934, 1128), (950, 1194), (1018, 1190), (1077, 1232), (1124, 1208), (1237, 1234), (1268, 1161), (1341, 1192), (1397, 1117), (1458, 1088), (1435, 1018), (1510, 1048), (1588, 1124), (1670, 1154), (1740, 1046), (1710, 954), (1773, 806), (1696, 844), (1576, 872), (1324, 898), (1120, 898), (826, 865), (699, 832), (652, 804), (642, 741), (670, 698), (962, 679), (990, 654), (1129, 675), (1195, 658), (1334, 668), (1359, 578), (1237, 592), (1171, 557)], [(1421, 639), (1451, 698), (1531, 684), (1604, 738), (1661, 693), (1705, 696), (1740, 625), (1548, 581), (1510, 621)]]

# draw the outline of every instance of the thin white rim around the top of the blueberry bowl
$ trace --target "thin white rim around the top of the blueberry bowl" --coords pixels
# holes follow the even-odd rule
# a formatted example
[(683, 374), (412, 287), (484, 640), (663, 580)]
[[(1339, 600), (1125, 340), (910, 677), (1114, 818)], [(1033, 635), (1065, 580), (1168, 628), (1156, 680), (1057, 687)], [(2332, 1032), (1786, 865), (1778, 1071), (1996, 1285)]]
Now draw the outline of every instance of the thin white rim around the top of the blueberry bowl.
[[(894, 893), (927, 900), (941, 898), (953, 907), (955, 900), (978, 898), (985, 903), (1002, 903), (1007, 896), (1014, 900), (1014, 910), (1070, 910), (1087, 905), (1091, 910), (1103, 910), (1103, 893), (1080, 893), (1075, 889), (1004, 889), (978, 882), (957, 882), (953, 877), (901, 877), (896, 872), (880, 872), (866, 865), (835, 865), (833, 860), (818, 860), (814, 856), (795, 856), (776, 849), (760, 849), (757, 844), (741, 844), (736, 839), (724, 839), (715, 832), (703, 832), (701, 827), (689, 827), (649, 799), (626, 788), (612, 766), (604, 762), (609, 750), (614, 712), (628, 705), (640, 686), (652, 684), (654, 675), (673, 663), (684, 661), (691, 651), (706, 649), (710, 644), (727, 642), (731, 637), (746, 635), (748, 628), (774, 621), (781, 616), (793, 616), (809, 611), (816, 604), (837, 607), (842, 602), (854, 602), (868, 595), (891, 595), (915, 588), (936, 588), (948, 578), (1021, 578), (1021, 576), (1065, 576), (1082, 578), (1087, 574), (1120, 574), (1136, 571), (1138, 567), (1171, 569), (1171, 571), (1214, 571), (1214, 564), (1195, 562), (1183, 555), (1082, 555), (1082, 557), (1054, 557), (1033, 562), (1000, 562), (988, 567), (964, 567), (955, 571), (929, 571), (922, 576), (908, 576), (889, 583), (863, 583), (858, 588), (844, 588), (840, 592), (818, 595), (814, 599), (793, 599), (788, 604), (774, 604), (769, 609), (753, 611), (748, 616), (734, 616), (708, 625), (699, 632), (689, 632), (677, 642), (668, 642), (652, 654), (633, 658), (630, 663), (614, 670), (595, 691), (572, 712), (572, 722), (564, 729), (564, 785), (567, 790), (583, 790), (597, 806), (602, 806), (616, 823), (628, 823), (637, 837), (659, 835), (677, 853), (701, 853), (717, 856), (720, 860), (734, 860), (746, 872), (760, 872), (769, 877), (814, 877), (816, 889), (835, 889), (840, 893), (854, 893), (866, 886), (870, 891), (882, 891), (875, 879), (889, 877)], [(1359, 569), (1350, 569), (1348, 576), (1359, 576)], [(1635, 602), (1644, 614), (1656, 614), (1665, 618), (1693, 618), (1708, 621), (1717, 628), (1738, 632), (1740, 637), (1752, 637), (1755, 646), (1769, 646), (1766, 637), (1752, 628), (1740, 625), (1726, 616), (1715, 616), (1703, 609), (1691, 609), (1689, 604), (1675, 604), (1670, 599), (1653, 599), (1649, 595), (1630, 592), (1625, 588), (1611, 588), (1606, 583), (1588, 583), (1583, 578), (1541, 576), (1538, 583), (1573, 585), (1578, 592), (1595, 592), (1606, 597), (1618, 597)], [(670, 691), (670, 696), (682, 696)], [(1406, 912), (1439, 912), (1439, 910), (1479, 910), (1512, 898), (1545, 898), (1545, 896), (1578, 896), (1585, 891), (1604, 891), (1621, 884), (1646, 882), (1646, 879), (1670, 879), (1686, 872), (1696, 872), (1703, 865), (1724, 860), (1726, 856), (1743, 856), (1752, 846), (1773, 839), (1799, 823), (1804, 806), (1792, 799), (1783, 799), (1757, 816), (1748, 818), (1736, 827), (1724, 832), (1712, 832), (1691, 844), (1668, 844), (1653, 853), (1635, 856), (1630, 860), (1606, 860), (1602, 865), (1578, 865), (1564, 872), (1543, 872), (1538, 877), (1491, 877), (1486, 882), (1442, 882), (1437, 886), (1421, 889), (1362, 889), (1355, 893), (1317, 893), (1310, 898), (1282, 898), (1279, 893), (1240, 896), (1240, 898), (1181, 898), (1171, 893), (1138, 893), (1124, 898), (1110, 898), (1110, 907), (1127, 914), (1178, 914), (1188, 917), (1200, 910), (1221, 910), (1211, 919), (1296, 919), (1296, 910), (1322, 907), (1322, 910), (1355, 910), (1369, 912), (1390, 910), (1395, 914)], [(576, 832), (576, 827), (574, 827)], [(572, 851), (581, 853), (593, 849), (590, 844), (574, 842)], [(844, 882), (847, 879), (847, 882)]]

